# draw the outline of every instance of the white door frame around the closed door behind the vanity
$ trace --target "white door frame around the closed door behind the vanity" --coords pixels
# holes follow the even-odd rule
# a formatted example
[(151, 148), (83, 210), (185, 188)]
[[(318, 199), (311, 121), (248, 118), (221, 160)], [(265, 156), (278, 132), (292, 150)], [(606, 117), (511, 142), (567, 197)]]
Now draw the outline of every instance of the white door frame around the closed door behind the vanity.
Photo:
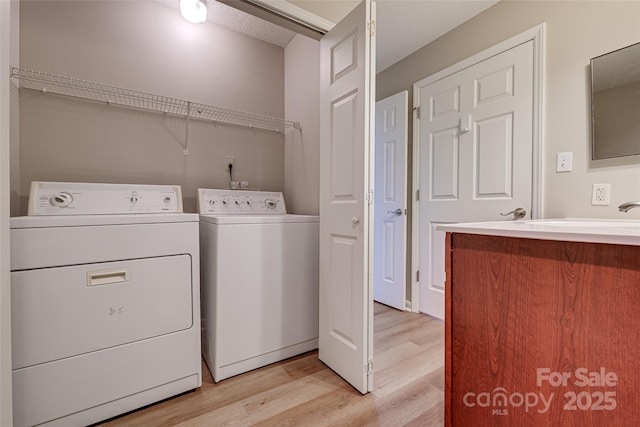
[[(518, 45), (533, 41), (533, 153), (532, 153), (532, 188), (531, 188), (531, 218), (537, 219), (542, 216), (543, 192), (542, 192), (542, 159), (543, 159), (543, 130), (544, 130), (544, 51), (545, 51), (545, 23), (536, 25), (529, 30), (523, 31), (501, 43), (472, 55), (462, 61), (451, 65), (444, 70), (438, 71), (413, 84), (413, 194), (411, 196), (412, 222), (411, 230), (413, 236), (419, 236), (420, 224), (420, 203), (418, 192), (420, 191), (420, 120), (418, 119), (418, 108), (420, 107), (420, 89), (451, 74), (457, 73), (474, 64), (482, 62), (492, 56), (498, 55)], [(420, 242), (419, 239), (412, 239), (411, 243), (411, 310), (420, 311), (420, 282), (418, 280), (418, 270), (420, 268)], [(424, 274), (424, 273), (423, 273)]]

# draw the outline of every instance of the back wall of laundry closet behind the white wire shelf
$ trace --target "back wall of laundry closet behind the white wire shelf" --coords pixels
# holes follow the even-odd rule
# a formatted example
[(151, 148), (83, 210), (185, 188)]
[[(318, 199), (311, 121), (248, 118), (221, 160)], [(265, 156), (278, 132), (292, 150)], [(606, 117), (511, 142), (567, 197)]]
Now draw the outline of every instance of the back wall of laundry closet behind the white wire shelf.
[[(284, 49), (150, 1), (23, 1), (20, 66), (254, 112), (284, 115)], [(284, 188), (282, 133), (43, 95), (20, 94), (22, 213), (32, 180)]]

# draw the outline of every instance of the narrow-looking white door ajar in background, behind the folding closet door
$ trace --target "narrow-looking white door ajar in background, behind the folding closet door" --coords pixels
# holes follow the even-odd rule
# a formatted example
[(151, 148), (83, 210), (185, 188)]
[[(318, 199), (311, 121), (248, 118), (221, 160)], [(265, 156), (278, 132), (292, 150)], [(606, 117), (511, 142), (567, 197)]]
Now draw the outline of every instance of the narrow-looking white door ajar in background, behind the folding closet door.
[(407, 109), (405, 90), (376, 102), (373, 299), (406, 308)]

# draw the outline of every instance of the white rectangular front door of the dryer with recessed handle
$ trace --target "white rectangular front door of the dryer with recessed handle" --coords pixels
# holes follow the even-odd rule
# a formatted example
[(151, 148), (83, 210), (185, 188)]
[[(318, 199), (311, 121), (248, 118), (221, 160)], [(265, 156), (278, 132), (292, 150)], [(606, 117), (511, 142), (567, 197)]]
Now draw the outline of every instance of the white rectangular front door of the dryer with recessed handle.
[(189, 329), (191, 276), (189, 255), (12, 272), (13, 369)]

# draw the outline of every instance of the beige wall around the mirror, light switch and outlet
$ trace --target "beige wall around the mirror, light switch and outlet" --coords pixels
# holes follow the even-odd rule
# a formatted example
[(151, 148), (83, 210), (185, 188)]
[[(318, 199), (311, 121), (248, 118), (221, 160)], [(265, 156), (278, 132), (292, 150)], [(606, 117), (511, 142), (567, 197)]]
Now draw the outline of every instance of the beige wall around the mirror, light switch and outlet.
[[(589, 61), (640, 41), (638, 1), (502, 1), (378, 75), (384, 98), (509, 37), (547, 23), (543, 216), (640, 218), (617, 206), (640, 200), (640, 165), (590, 161)], [(411, 103), (411, 101), (410, 101)], [(410, 127), (411, 129), (411, 127)], [(573, 172), (556, 173), (558, 152)], [(611, 184), (611, 205), (591, 206), (594, 183)]]

